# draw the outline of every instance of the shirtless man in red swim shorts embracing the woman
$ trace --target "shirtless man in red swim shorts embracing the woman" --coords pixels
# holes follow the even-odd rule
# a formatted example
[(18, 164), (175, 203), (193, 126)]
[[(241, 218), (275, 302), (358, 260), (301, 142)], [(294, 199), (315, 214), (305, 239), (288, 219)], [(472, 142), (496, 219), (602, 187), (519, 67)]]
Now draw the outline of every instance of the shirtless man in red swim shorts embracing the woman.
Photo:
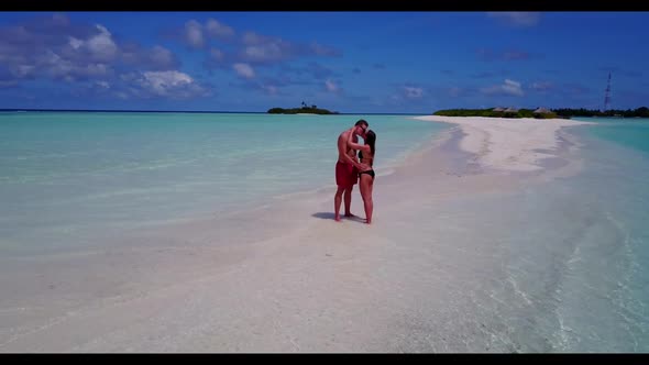
[(348, 146), (349, 133), (353, 133), (354, 143), (359, 142), (359, 135), (365, 137), (365, 131), (370, 124), (360, 120), (354, 128), (342, 132), (338, 136), (338, 163), (336, 163), (336, 185), (338, 190), (333, 198), (334, 219), (340, 222), (340, 204), (344, 195), (344, 217), (354, 217), (351, 212), (352, 190), (359, 181), (359, 172), (370, 169), (370, 166), (360, 164), (356, 152)]

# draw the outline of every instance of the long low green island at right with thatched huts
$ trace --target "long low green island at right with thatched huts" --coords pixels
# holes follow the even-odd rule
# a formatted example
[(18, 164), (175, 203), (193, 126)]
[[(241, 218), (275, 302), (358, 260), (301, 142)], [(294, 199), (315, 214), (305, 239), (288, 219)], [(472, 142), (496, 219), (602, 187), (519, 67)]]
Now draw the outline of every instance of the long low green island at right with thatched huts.
[(516, 108), (490, 108), (490, 109), (446, 109), (438, 110), (433, 115), (442, 117), (492, 117), (492, 118), (536, 118), (553, 119), (571, 117), (605, 117), (605, 118), (649, 118), (649, 108), (641, 107), (637, 109), (605, 111), (580, 109), (516, 109)]

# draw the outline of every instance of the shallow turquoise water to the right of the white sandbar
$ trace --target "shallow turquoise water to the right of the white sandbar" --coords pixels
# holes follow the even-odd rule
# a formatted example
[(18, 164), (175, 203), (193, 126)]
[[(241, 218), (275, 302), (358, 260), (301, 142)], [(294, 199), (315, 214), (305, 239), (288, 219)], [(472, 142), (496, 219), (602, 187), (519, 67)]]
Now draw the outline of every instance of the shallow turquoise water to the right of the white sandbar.
[[(575, 119), (575, 176), (485, 203), (504, 280), (482, 303), (513, 352), (649, 351), (649, 120)], [(484, 215), (481, 215), (484, 217)], [(494, 300), (497, 298), (498, 300)], [(481, 309), (483, 310), (483, 309)], [(480, 311), (480, 310), (477, 310)]]

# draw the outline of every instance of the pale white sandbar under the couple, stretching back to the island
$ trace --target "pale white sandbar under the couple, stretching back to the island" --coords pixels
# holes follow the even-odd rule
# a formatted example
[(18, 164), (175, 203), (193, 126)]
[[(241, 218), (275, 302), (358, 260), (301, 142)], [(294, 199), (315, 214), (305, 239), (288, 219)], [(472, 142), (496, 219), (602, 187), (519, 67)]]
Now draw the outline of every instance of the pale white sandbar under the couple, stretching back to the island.
[[(598, 202), (575, 206), (572, 190), (552, 185), (584, 169), (571, 131), (590, 123), (415, 119), (453, 128), (389, 174), (377, 172), (371, 225), (358, 188), (352, 211), (361, 217), (336, 222), (328, 185), (140, 226), (102, 248), (0, 257), (0, 352), (648, 349), (641, 339), (597, 349), (602, 333), (575, 340), (583, 333), (562, 311), (576, 300), (562, 297), (557, 283), (565, 281), (556, 276), (574, 274), (572, 243), (618, 234), (597, 224), (584, 231), (575, 209), (592, 226)], [(561, 225), (566, 220), (574, 224)], [(624, 331), (612, 325), (610, 336)]]

